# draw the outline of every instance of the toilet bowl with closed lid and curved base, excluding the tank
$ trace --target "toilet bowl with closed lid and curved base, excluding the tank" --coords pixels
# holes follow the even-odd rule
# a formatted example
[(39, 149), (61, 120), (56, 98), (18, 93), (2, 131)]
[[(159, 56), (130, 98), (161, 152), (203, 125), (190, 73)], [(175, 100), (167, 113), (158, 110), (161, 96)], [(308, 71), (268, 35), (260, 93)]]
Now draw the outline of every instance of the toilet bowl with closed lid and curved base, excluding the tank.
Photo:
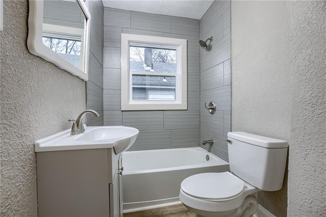
[(258, 208), (258, 191), (229, 172), (201, 173), (182, 181), (179, 198), (196, 216), (251, 216)]

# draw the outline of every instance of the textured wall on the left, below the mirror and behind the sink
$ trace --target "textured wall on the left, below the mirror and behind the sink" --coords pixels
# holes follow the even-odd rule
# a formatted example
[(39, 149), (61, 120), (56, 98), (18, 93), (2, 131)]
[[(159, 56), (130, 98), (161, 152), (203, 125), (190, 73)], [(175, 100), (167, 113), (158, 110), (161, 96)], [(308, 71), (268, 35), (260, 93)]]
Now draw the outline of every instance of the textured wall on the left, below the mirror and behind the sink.
[(1, 32), (1, 216), (37, 216), (34, 142), (86, 108), (85, 82), (26, 47), (28, 1), (4, 1)]

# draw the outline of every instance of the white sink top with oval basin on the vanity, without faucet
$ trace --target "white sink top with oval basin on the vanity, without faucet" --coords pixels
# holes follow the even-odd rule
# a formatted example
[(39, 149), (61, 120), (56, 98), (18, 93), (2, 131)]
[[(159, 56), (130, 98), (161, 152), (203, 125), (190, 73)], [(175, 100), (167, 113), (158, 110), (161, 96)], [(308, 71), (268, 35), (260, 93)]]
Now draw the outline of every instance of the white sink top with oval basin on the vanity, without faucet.
[(35, 142), (35, 152), (114, 148), (116, 154), (132, 146), (139, 130), (127, 126), (85, 127), (85, 132), (70, 135), (70, 129)]

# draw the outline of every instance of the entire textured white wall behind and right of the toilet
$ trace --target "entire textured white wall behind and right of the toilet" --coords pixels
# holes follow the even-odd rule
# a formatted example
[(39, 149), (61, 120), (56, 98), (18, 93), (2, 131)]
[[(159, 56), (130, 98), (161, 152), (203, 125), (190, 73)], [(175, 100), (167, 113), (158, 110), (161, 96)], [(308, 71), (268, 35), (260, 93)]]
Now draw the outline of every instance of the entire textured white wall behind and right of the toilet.
[(288, 183), (258, 197), (276, 216), (326, 214), (325, 4), (231, 3), (232, 130), (290, 145)]

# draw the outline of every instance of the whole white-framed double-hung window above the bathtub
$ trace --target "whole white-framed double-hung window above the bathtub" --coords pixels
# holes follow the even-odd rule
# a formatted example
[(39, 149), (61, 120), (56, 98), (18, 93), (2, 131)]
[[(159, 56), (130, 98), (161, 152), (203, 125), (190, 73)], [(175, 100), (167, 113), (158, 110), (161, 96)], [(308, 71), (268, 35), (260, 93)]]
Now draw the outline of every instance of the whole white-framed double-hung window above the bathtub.
[(187, 109), (187, 42), (121, 34), (121, 110)]

